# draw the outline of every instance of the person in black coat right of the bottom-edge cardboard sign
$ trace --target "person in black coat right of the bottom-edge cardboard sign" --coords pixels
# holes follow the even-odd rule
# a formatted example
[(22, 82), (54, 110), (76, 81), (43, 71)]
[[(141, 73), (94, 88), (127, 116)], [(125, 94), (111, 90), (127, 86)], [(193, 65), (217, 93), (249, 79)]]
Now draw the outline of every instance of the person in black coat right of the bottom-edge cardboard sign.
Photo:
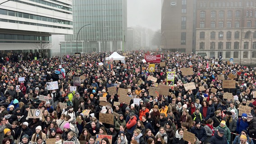
[(200, 121), (196, 121), (195, 126), (191, 128), (191, 132), (201, 141), (201, 144), (206, 140), (206, 130), (201, 126)]

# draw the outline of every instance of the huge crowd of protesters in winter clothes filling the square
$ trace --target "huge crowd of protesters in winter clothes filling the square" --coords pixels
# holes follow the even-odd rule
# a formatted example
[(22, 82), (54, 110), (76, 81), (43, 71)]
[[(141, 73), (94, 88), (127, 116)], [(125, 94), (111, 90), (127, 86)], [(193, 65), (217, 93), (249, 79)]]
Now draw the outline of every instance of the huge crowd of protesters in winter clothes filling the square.
[[(120, 53), (122, 54), (122, 53)], [(160, 51), (127, 51), (125, 63), (105, 61), (107, 52), (67, 55), (37, 60), (1, 61), (0, 63), (0, 142), (2, 144), (253, 144), (256, 138), (256, 67), (228, 65), (218, 59), (195, 54)], [(161, 55), (165, 66), (155, 63), (154, 72), (143, 63), (145, 54)], [(103, 65), (101, 64), (103, 63)], [(185, 75), (181, 68), (192, 67)], [(139, 69), (139, 71), (137, 71)], [(167, 81), (174, 72), (174, 81)], [(223, 88), (218, 76), (236, 76), (235, 87)], [(83, 76), (77, 90), (73, 77)], [(149, 76), (157, 80), (153, 82)], [(24, 78), (24, 79), (22, 79)], [(48, 90), (47, 82), (58, 81), (58, 89)], [(194, 83), (196, 89), (185, 90)], [(169, 85), (168, 95), (150, 95), (150, 87)], [(18, 86), (17, 86), (18, 85)], [(108, 88), (128, 89), (130, 103), (118, 103), (120, 95)], [(199, 90), (203, 86), (204, 90)], [(17, 89), (18, 87), (18, 89)], [(214, 91), (213, 90), (216, 90)], [(224, 93), (233, 99), (224, 99)], [(39, 100), (40, 95), (49, 100)], [(106, 97), (107, 105), (100, 104)], [(141, 99), (139, 104), (133, 99)], [(67, 108), (61, 108), (67, 103)], [(250, 111), (239, 112), (248, 106)], [(39, 118), (28, 117), (30, 109), (41, 109)], [(83, 112), (90, 110), (88, 115)], [(100, 113), (114, 115), (112, 124), (102, 123)], [(117, 113), (117, 115), (116, 115)], [(81, 121), (78, 121), (81, 120)], [(183, 139), (184, 133), (194, 141)], [(189, 133), (189, 134), (190, 134)], [(112, 142), (111, 142), (112, 141)]]

